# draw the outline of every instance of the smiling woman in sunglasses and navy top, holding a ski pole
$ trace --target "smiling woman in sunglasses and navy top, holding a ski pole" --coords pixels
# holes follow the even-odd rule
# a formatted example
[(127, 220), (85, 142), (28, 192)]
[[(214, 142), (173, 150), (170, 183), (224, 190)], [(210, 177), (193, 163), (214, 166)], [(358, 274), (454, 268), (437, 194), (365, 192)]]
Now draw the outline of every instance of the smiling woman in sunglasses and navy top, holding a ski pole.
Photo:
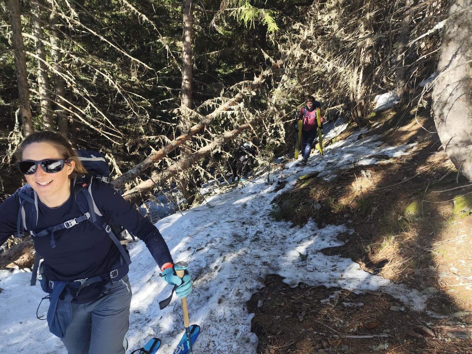
[[(125, 354), (131, 261), (109, 224), (119, 220), (144, 241), (162, 279), (181, 298), (192, 289), (188, 271), (177, 276), (159, 230), (102, 177), (87, 173), (64, 136), (36, 132), (25, 138), (15, 157), (27, 185), (0, 204), (0, 245), (10, 235), (32, 235), (36, 254), (43, 258), (38, 279), (50, 294), (43, 298), (50, 301), (48, 326), (68, 354)], [(37, 266), (35, 261), (32, 285)]]

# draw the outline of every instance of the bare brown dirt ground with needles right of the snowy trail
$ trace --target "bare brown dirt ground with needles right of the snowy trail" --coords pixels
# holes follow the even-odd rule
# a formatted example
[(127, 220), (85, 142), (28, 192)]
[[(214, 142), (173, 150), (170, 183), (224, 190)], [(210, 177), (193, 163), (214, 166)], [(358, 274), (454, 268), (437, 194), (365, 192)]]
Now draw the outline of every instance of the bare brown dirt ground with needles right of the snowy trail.
[(274, 199), (272, 216), (298, 225), (309, 218), (320, 227), (348, 224), (354, 234), (340, 237), (346, 244), (322, 252), (430, 295), (426, 311), (378, 292), (290, 288), (272, 275), (248, 302), (258, 353), (472, 353), (472, 216), (454, 202), (472, 187), (456, 188), (470, 182), (457, 174), (438, 135), (425, 130), (436, 131), (429, 112), (419, 113), (418, 124), (414, 111), (387, 112), (366, 134), (388, 145), (417, 143), (410, 155), (354, 164), (330, 182), (305, 176)]

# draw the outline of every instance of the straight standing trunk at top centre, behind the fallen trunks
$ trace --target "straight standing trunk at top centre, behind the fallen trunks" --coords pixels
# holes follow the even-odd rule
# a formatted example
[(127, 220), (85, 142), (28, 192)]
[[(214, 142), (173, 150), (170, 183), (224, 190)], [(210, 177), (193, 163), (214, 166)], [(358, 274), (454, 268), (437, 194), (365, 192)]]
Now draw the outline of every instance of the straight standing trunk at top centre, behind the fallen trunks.
[[(183, 15), (183, 31), (182, 31), (182, 89), (180, 92), (181, 105), (188, 109), (192, 109), (192, 37), (194, 25), (194, 4), (193, 0), (184, 0), (182, 8)], [(187, 109), (181, 109), (180, 131), (186, 134), (192, 122)], [(186, 143), (182, 148), (182, 158), (186, 159), (191, 153), (190, 142)], [(185, 176), (180, 179), (182, 194), (188, 205), (191, 205), (194, 200), (194, 195), (189, 191), (188, 180)]]

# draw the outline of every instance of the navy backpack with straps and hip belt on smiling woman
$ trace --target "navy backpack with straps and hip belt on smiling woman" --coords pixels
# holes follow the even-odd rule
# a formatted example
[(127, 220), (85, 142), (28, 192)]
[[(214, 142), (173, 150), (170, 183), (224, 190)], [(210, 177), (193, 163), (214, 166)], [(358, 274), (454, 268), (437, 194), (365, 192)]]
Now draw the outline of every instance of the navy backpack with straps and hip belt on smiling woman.
[[(36, 278), (38, 278), (40, 280), (42, 290), (50, 294), (42, 298), (42, 300), (50, 300), (46, 320), (48, 321), (48, 326), (51, 333), (58, 336), (59, 338), (65, 337), (66, 330), (71, 323), (71, 301), (74, 299), (74, 297), (78, 296), (84, 287), (92, 284), (97, 285), (98, 282), (101, 282), (100, 287), (97, 289), (99, 292), (109, 290), (112, 285), (111, 280), (121, 280), (123, 277), (125, 277), (128, 273), (129, 265), (131, 264), (129, 253), (122, 244), (122, 242), (126, 244), (122, 234), (124, 229), (118, 224), (114, 223), (112, 220), (110, 220), (110, 223), (107, 223), (105, 217), (101, 214), (93, 200), (93, 183), (110, 184), (108, 161), (100, 152), (77, 150), (77, 154), (79, 155), (79, 159), (82, 161), (84, 168), (88, 172), (86, 175), (76, 177), (73, 182), (74, 199), (77, 203), (77, 206), (79, 207), (79, 210), (83, 213), (82, 216), (75, 219), (62, 220), (61, 223), (51, 226), (50, 228), (36, 230), (35, 226), (38, 222), (38, 195), (36, 192), (34, 192), (30, 185), (25, 185), (18, 191), (20, 201), (17, 220), (18, 235), (28, 232), (32, 237), (50, 236), (51, 247), (54, 248), (56, 247), (54, 232), (64, 228), (72, 228), (84, 220), (89, 220), (97, 228), (107, 232), (121, 253), (119, 261), (114, 265), (110, 272), (87, 279), (77, 279), (69, 282), (49, 280), (47, 275), (43, 272), (43, 266), (39, 267), (41, 255), (36, 253), (34, 257), (34, 266), (32, 271), (33, 274), (31, 276), (31, 285), (36, 285)], [(118, 191), (118, 193), (119, 192), (120, 191)], [(123, 241), (120, 242), (120, 239)], [(38, 268), (41, 268), (39, 275)], [(36, 316), (38, 316), (37, 311)], [(38, 317), (38, 319), (40, 318)]]

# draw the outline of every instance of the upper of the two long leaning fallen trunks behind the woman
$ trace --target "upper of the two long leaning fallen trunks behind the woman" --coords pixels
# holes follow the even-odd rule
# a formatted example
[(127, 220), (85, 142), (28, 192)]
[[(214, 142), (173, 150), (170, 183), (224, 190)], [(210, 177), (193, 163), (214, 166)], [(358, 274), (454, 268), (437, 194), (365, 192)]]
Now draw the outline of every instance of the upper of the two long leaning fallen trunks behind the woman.
[[(236, 104), (236, 102), (241, 100), (244, 96), (250, 95), (251, 89), (253, 89), (253, 87), (255, 86), (262, 84), (264, 80), (270, 75), (270, 73), (272, 73), (271, 69), (267, 69), (264, 72), (262, 72), (261, 75), (259, 75), (258, 77), (255, 77), (251, 83), (249, 83), (244, 89), (239, 91), (234, 97), (232, 97), (231, 99), (223, 103), (216, 110), (211, 112), (208, 116), (204, 117), (200, 123), (192, 126), (190, 130), (188, 131), (188, 133), (178, 136), (176, 139), (174, 139), (172, 142), (167, 144), (165, 147), (155, 152), (154, 154), (149, 156), (146, 160), (143, 160), (142, 162), (137, 164), (135, 167), (125, 172), (120, 177), (116, 178), (111, 183), (116, 188), (123, 188), (126, 182), (129, 182), (133, 180), (134, 178), (138, 177), (146, 169), (150, 168), (153, 163), (169, 155), (170, 152), (177, 149), (177, 147), (179, 147), (180, 145), (185, 143), (188, 139), (190, 139), (192, 136), (194, 136), (199, 131), (201, 131), (205, 125), (210, 124), (214, 119), (218, 117), (218, 115), (221, 112), (227, 111), (231, 106)], [(195, 111), (193, 112), (196, 113)]]

